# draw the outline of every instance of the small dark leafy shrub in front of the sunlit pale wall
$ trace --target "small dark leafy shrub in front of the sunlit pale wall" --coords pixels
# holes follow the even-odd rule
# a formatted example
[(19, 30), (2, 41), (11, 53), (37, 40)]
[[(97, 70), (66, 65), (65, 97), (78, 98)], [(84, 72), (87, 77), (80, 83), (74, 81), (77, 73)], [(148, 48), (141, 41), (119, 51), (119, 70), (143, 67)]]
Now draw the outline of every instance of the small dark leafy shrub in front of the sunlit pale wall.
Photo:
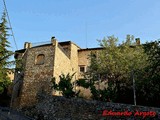
[(70, 75), (69, 73), (65, 76), (64, 74), (60, 75), (60, 81), (58, 84), (56, 83), (56, 79), (52, 79), (52, 88), (57, 91), (60, 91), (63, 96), (70, 98), (70, 97), (77, 97), (80, 91), (74, 91), (74, 83), (72, 83), (72, 78), (74, 74)]

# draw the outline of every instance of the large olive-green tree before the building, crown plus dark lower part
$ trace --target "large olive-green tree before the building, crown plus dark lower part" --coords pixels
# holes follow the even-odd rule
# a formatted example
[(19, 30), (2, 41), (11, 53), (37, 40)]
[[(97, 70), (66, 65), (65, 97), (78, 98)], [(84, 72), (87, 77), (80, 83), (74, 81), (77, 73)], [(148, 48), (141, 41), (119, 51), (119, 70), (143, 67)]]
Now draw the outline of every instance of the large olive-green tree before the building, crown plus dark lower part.
[[(110, 99), (113, 95), (111, 93), (117, 95), (117, 102), (123, 102), (127, 92), (130, 92), (127, 97), (133, 97), (131, 72), (134, 71), (135, 74), (138, 74), (147, 65), (147, 55), (144, 53), (143, 47), (133, 42), (133, 36), (129, 35), (127, 35), (126, 41), (120, 45), (118, 45), (118, 38), (114, 36), (104, 38), (99, 43), (104, 50), (99, 52), (96, 57), (90, 56), (90, 75), (99, 75), (101, 80), (108, 82), (110, 87), (107, 90), (108, 95), (111, 95)], [(121, 101), (121, 98), (124, 99)], [(131, 100), (128, 99), (129, 102)]]

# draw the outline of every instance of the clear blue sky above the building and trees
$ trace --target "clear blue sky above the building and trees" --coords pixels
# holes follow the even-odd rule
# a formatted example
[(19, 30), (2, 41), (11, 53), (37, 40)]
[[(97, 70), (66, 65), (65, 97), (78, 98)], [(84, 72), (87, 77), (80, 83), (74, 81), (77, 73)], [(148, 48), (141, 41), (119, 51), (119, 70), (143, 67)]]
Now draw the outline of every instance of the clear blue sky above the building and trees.
[(110, 35), (120, 42), (127, 34), (143, 43), (160, 38), (160, 0), (6, 0), (6, 5), (18, 49), (52, 36), (82, 48), (98, 47), (97, 39)]

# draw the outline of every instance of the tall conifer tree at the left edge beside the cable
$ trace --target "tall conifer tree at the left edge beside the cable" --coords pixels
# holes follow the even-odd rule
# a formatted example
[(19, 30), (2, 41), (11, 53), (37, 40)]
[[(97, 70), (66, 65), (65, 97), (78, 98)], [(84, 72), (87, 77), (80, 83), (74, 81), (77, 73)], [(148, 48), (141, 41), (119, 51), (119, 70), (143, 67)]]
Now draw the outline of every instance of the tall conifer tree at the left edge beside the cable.
[(10, 47), (10, 42), (8, 41), (9, 34), (7, 33), (8, 29), (6, 13), (4, 11), (0, 22), (0, 93), (4, 91), (4, 88), (6, 88), (10, 82), (7, 72), (9, 66), (12, 64), (9, 59), (11, 55), (13, 55), (13, 52), (8, 50)]

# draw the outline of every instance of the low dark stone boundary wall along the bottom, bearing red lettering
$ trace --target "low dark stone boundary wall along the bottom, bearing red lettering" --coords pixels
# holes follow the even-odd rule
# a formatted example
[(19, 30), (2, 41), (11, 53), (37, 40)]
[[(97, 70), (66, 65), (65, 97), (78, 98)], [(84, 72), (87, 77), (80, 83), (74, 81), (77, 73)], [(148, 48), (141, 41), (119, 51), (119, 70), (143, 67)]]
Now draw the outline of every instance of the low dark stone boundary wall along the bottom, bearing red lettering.
[(40, 95), (39, 103), (22, 111), (36, 120), (158, 120), (160, 108)]

